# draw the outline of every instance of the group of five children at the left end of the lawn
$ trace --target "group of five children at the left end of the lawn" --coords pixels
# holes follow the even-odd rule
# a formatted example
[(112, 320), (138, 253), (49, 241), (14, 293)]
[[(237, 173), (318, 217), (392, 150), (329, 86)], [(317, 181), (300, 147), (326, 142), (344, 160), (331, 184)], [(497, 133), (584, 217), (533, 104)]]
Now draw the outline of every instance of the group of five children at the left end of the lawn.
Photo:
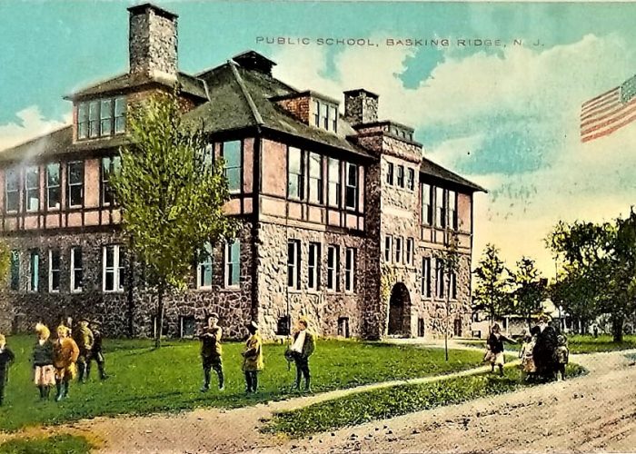
[[(89, 321), (81, 320), (74, 339), (71, 337), (71, 329), (60, 324), (56, 330), (55, 341), (51, 341), (51, 331), (45, 324), (35, 325), (37, 340), (33, 347), (32, 362), (34, 382), (40, 391), (41, 400), (49, 399), (54, 385), (57, 391), (55, 401), (65, 399), (77, 369), (79, 369), (79, 381), (84, 383), (89, 377), (93, 360), (97, 362), (100, 378), (107, 379), (104, 371), (100, 323), (93, 321), (92, 329), (88, 325)], [(6, 346), (5, 336), (0, 334), (0, 405), (4, 401), (9, 366), (14, 361), (15, 354)]]

